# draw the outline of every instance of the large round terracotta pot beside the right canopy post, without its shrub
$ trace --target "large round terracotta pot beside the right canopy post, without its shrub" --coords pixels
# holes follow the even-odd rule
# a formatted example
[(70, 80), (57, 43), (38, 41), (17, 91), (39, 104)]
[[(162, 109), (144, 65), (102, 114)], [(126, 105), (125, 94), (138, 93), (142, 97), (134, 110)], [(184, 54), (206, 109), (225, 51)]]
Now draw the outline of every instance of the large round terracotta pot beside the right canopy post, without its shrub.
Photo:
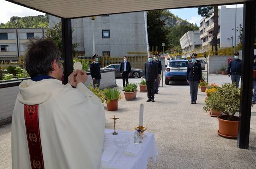
[(227, 117), (228, 115), (218, 116), (218, 120), (219, 120), (218, 134), (225, 138), (237, 138), (238, 116), (234, 116), (235, 118), (237, 118), (236, 121), (224, 120)]

